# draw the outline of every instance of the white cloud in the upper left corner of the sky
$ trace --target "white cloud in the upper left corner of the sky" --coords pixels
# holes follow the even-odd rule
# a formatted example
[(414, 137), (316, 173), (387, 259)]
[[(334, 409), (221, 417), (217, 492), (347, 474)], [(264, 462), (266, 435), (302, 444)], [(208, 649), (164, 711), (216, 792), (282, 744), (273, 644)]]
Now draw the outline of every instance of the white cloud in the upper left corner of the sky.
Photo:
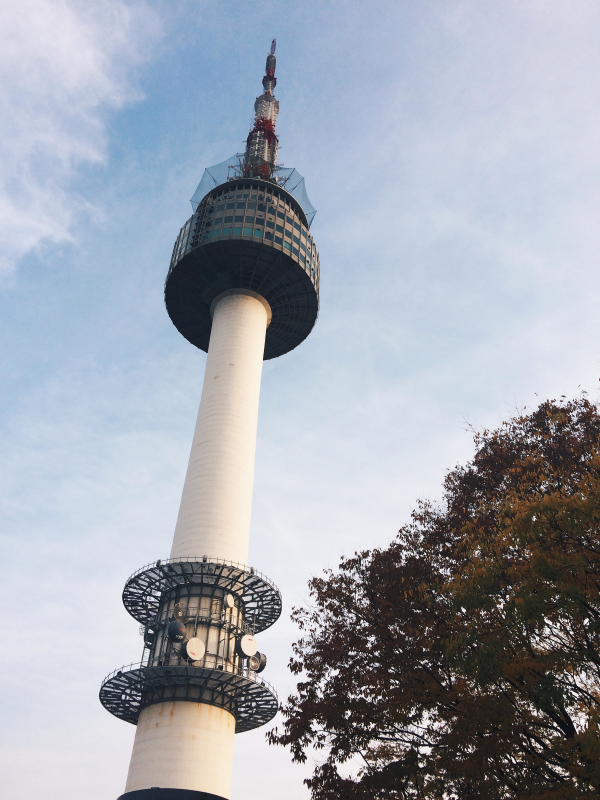
[(69, 191), (106, 157), (105, 115), (139, 99), (133, 69), (158, 29), (122, 0), (5, 0), (0, 7), (0, 275), (44, 240), (70, 238)]

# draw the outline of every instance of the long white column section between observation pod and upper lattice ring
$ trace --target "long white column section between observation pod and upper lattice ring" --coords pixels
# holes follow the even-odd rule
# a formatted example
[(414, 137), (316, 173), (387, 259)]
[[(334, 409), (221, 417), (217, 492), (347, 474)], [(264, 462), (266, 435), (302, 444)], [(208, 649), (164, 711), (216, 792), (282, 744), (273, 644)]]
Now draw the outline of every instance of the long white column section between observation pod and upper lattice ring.
[(270, 316), (267, 302), (244, 290), (224, 292), (213, 302), (204, 387), (171, 558), (247, 561)]

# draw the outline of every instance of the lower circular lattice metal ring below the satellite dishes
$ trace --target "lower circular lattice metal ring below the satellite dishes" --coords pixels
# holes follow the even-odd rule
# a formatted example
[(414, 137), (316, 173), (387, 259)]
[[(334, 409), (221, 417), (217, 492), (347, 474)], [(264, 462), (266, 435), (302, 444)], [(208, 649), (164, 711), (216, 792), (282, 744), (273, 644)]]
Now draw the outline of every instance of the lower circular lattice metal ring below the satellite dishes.
[(100, 688), (104, 708), (133, 725), (144, 708), (174, 700), (226, 709), (235, 717), (236, 733), (265, 725), (279, 708), (275, 690), (258, 676), (203, 667), (130, 664), (107, 675)]

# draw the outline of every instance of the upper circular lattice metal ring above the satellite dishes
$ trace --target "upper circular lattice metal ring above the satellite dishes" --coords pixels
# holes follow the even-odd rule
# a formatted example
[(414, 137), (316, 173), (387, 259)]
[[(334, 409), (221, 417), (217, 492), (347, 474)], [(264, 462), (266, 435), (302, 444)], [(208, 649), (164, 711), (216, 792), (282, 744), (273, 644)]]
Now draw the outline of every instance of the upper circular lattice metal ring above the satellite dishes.
[(205, 557), (168, 559), (142, 567), (127, 580), (123, 604), (145, 625), (156, 619), (165, 592), (202, 583), (238, 597), (244, 619), (256, 633), (269, 628), (281, 615), (281, 593), (268, 578), (242, 564)]

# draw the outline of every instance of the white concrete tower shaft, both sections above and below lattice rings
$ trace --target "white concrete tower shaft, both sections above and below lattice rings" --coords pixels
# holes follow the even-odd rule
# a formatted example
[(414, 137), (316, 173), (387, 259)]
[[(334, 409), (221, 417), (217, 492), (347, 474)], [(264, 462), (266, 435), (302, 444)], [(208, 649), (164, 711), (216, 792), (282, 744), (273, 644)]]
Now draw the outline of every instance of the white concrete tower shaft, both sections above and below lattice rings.
[[(268, 303), (244, 290), (213, 301), (213, 324), (171, 558), (246, 563)], [(126, 792), (153, 787), (229, 798), (235, 718), (205, 703), (140, 713)]]

